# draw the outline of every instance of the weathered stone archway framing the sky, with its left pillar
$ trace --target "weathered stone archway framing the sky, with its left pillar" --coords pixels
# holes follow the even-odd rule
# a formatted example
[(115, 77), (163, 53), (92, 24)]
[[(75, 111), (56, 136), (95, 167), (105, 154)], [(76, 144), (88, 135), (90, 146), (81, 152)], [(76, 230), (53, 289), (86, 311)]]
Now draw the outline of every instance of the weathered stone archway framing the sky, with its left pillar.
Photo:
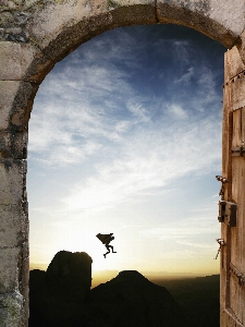
[[(25, 189), (28, 119), (41, 81), (56, 62), (81, 44), (126, 25), (185, 25), (226, 48), (236, 46), (245, 62), (245, 3), (243, 0), (1, 0), (0, 3), (0, 325), (24, 327), (28, 324)], [(238, 66), (241, 59), (230, 64)]]

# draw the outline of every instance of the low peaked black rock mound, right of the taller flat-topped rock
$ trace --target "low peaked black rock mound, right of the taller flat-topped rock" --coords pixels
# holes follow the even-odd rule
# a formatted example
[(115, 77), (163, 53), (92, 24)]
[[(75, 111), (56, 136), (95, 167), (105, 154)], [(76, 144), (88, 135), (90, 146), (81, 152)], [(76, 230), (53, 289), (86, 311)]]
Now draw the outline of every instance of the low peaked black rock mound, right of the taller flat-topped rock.
[(163, 288), (135, 270), (121, 271), (90, 291), (93, 319), (88, 327), (179, 327), (185, 317)]

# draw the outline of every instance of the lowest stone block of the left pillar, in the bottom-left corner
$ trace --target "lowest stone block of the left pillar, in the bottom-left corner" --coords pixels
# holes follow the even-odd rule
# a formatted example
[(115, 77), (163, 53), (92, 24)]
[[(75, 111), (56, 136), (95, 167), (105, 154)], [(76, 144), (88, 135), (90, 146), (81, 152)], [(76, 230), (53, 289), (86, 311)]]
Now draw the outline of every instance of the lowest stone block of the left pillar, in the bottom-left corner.
[(23, 315), (23, 296), (19, 292), (0, 294), (0, 326), (25, 327)]

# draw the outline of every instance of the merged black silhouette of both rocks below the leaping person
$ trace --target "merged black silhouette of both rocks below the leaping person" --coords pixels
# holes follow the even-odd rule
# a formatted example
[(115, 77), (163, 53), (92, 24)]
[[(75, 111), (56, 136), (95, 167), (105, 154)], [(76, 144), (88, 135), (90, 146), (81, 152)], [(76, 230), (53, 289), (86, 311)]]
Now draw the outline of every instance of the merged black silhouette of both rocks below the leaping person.
[(91, 291), (91, 258), (61, 251), (47, 272), (29, 274), (29, 327), (187, 326), (167, 291), (138, 271), (121, 271)]

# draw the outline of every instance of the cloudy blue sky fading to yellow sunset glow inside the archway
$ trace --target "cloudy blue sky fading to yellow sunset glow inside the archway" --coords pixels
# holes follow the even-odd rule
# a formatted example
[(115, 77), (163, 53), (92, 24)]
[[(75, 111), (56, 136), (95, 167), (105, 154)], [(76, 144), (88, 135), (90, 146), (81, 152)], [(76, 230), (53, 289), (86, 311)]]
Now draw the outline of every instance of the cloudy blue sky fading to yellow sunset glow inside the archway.
[[(219, 272), (223, 55), (177, 25), (106, 32), (46, 76), (29, 121), (30, 265)], [(114, 233), (105, 259), (97, 233)]]

